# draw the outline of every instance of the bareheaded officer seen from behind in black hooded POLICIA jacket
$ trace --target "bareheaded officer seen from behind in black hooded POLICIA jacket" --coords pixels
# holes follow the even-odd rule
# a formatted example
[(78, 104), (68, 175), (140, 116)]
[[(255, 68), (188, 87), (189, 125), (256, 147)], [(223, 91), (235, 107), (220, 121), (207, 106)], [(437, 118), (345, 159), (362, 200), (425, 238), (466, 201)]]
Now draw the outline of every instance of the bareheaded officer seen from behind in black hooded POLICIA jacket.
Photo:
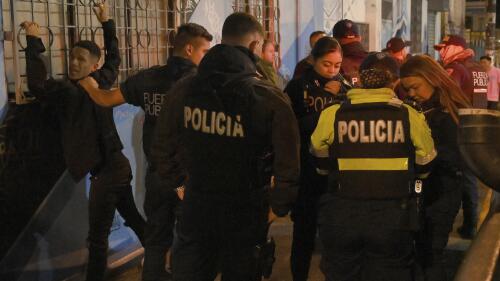
[(165, 187), (185, 186), (174, 280), (214, 280), (218, 270), (223, 280), (260, 280), (256, 245), (269, 203), (284, 216), (295, 199), (297, 124), (286, 96), (255, 78), (249, 47), (262, 39), (253, 16), (227, 17), (222, 44), (207, 53), (196, 76), (172, 89), (158, 119), (153, 163)]

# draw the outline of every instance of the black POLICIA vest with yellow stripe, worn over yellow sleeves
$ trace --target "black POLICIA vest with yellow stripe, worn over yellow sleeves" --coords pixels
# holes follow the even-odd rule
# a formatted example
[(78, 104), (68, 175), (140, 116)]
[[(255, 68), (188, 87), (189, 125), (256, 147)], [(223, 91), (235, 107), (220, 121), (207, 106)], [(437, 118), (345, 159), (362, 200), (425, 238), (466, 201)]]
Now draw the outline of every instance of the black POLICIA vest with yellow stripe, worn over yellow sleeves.
[(415, 163), (409, 122), (401, 104), (344, 103), (335, 117), (329, 189), (359, 199), (408, 196)]

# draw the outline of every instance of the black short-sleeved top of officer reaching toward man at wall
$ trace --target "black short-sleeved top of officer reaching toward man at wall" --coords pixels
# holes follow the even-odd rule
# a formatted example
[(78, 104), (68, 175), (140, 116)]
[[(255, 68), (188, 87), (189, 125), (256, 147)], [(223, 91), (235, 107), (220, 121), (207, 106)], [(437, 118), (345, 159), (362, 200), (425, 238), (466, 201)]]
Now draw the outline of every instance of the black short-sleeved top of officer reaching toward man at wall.
[(166, 65), (143, 70), (121, 83), (120, 90), (127, 103), (140, 106), (146, 115), (142, 144), (148, 162), (156, 118), (160, 114), (163, 100), (177, 80), (194, 73), (196, 65), (192, 61), (171, 56)]

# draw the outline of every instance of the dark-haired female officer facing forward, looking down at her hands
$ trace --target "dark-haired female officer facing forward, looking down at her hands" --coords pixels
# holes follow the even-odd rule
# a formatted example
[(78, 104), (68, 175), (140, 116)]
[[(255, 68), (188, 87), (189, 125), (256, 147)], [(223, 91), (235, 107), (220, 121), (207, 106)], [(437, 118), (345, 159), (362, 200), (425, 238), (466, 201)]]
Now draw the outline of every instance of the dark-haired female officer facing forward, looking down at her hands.
[(285, 88), (300, 130), (300, 188), (292, 210), (293, 241), (290, 264), (294, 281), (307, 280), (316, 241), (318, 200), (326, 189), (326, 176), (318, 175), (309, 153), (311, 134), (321, 111), (338, 103), (348, 85), (339, 75), (342, 50), (337, 40), (323, 37), (311, 51), (313, 67)]

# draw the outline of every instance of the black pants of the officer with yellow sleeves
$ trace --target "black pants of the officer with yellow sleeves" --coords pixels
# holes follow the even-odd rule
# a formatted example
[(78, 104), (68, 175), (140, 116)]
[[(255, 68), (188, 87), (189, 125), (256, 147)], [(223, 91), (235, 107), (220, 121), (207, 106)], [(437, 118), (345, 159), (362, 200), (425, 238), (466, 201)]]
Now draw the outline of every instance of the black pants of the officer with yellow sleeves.
[(409, 200), (354, 200), (327, 193), (320, 201), (321, 270), (327, 281), (412, 279)]

